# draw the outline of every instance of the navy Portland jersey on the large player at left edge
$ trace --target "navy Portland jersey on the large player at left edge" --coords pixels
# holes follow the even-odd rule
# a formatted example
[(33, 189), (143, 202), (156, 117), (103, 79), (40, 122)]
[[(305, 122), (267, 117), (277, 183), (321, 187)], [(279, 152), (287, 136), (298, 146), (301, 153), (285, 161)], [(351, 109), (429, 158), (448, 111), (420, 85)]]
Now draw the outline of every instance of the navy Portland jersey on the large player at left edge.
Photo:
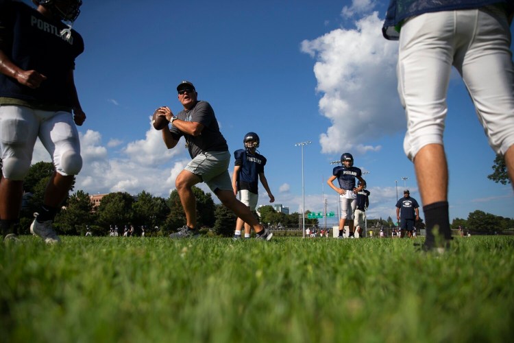
[(21, 69), (34, 69), (47, 76), (38, 88), (29, 88), (0, 74), (0, 97), (40, 108), (73, 106), (67, 80), (69, 71), (75, 68), (75, 58), (84, 51), (84, 41), (73, 29), (69, 38), (61, 36), (60, 31), (66, 27), (25, 3), (0, 0), (1, 49)]

